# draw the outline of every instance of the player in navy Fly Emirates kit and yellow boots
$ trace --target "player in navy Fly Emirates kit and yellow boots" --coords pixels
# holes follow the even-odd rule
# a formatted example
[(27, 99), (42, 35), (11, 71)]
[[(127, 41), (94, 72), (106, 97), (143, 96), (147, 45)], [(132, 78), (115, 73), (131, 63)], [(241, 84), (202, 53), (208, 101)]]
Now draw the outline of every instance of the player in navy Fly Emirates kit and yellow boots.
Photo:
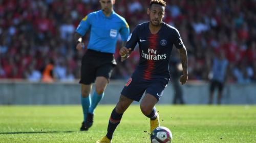
[(169, 59), (173, 44), (180, 53), (183, 67), (181, 84), (188, 79), (187, 52), (177, 29), (162, 21), (166, 3), (163, 0), (151, 0), (147, 14), (150, 21), (138, 25), (129, 36), (125, 47), (119, 51), (125, 59), (139, 44), (140, 61), (132, 77), (125, 84), (116, 107), (113, 109), (106, 136), (96, 141), (97, 143), (111, 142), (113, 133), (120, 123), (124, 111), (133, 101), (140, 101), (145, 91), (145, 97), (140, 103), (142, 113), (150, 118), (150, 131), (159, 126), (159, 115), (155, 104), (163, 94), (163, 90), (170, 80)]

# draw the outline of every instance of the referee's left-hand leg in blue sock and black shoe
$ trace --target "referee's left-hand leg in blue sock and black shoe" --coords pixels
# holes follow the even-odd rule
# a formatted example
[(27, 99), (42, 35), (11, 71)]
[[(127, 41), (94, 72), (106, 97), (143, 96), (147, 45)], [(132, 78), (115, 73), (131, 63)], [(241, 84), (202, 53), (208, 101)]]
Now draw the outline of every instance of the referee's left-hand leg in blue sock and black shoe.
[(82, 126), (80, 128), (80, 131), (87, 131), (88, 127), (86, 126), (86, 121), (87, 121), (87, 114), (89, 111), (89, 107), (91, 105), (91, 97), (90, 97), (90, 92), (92, 89), (91, 84), (81, 84), (81, 105), (82, 105), (82, 111), (83, 111), (83, 122)]

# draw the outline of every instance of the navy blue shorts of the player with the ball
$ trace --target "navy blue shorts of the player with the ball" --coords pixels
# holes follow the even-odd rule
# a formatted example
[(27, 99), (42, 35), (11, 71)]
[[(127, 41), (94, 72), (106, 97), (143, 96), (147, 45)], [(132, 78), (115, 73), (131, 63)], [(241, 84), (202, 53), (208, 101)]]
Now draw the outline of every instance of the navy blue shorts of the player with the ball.
[(164, 88), (167, 86), (169, 79), (162, 80), (144, 80), (141, 78), (130, 78), (125, 84), (121, 94), (129, 99), (139, 102), (143, 93), (152, 94), (157, 101), (163, 94)]

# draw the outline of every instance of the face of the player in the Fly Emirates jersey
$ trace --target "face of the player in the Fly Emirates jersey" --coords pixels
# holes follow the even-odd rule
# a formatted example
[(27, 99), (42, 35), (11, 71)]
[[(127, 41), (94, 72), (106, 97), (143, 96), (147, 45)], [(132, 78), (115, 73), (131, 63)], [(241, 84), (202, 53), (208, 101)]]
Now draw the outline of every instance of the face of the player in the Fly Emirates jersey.
[(147, 9), (147, 14), (150, 15), (150, 22), (153, 26), (159, 26), (163, 21), (164, 7), (158, 4), (153, 4)]

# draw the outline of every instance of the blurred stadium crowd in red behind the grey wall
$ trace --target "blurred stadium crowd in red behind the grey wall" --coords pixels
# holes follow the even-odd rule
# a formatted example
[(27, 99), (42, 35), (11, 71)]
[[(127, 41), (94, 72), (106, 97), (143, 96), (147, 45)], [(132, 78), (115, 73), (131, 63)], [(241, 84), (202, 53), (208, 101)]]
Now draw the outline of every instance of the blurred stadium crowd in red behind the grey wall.
[[(256, 1), (166, 1), (164, 22), (176, 27), (188, 51), (189, 80), (208, 80), (212, 59), (224, 53), (227, 82), (256, 81)], [(115, 12), (132, 31), (148, 19), (144, 0), (116, 0)], [(75, 27), (98, 0), (0, 0), (0, 79), (74, 81), (84, 52), (75, 50)], [(85, 42), (88, 43), (89, 34)], [(117, 51), (120, 41), (117, 44)], [(174, 48), (173, 52), (177, 52)], [(177, 54), (173, 54), (172, 58)], [(112, 79), (126, 79), (139, 60), (138, 50), (120, 62)], [(172, 72), (172, 71), (171, 71)]]

